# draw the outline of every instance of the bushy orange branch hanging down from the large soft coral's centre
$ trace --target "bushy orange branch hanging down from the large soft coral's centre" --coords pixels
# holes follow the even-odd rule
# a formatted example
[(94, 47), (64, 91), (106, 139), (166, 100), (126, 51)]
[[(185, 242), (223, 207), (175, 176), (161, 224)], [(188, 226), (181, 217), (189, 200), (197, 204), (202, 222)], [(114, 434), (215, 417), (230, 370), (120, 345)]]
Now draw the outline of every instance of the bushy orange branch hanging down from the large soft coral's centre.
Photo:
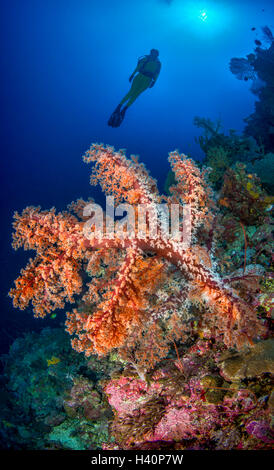
[(148, 308), (147, 296), (160, 282), (162, 267), (156, 259), (143, 259), (135, 247), (128, 248), (118, 275), (110, 283), (109, 290), (102, 294), (103, 300), (97, 305), (96, 312), (80, 322), (77, 310), (68, 314), (67, 329), (79, 337), (73, 343), (75, 349), (89, 355), (94, 350), (104, 354), (121, 346)]

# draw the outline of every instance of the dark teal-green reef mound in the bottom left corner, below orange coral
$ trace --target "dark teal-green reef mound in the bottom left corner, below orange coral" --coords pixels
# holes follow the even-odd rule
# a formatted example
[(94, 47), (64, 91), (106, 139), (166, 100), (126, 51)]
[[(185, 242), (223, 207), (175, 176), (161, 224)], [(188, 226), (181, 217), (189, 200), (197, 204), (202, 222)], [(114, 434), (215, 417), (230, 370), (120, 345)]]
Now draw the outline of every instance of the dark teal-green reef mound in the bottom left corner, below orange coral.
[(116, 362), (88, 361), (71, 349), (62, 328), (27, 333), (1, 360), (1, 448), (102, 447), (112, 413), (100, 380), (115, 370)]

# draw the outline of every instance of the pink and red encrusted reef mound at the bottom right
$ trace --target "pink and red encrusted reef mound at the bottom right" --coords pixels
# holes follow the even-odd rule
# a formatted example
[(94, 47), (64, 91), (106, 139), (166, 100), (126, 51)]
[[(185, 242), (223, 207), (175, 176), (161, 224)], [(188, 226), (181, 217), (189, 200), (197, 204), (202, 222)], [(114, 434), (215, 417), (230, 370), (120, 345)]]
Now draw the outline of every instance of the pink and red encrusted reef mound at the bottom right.
[[(126, 371), (105, 387), (115, 410), (107, 449), (270, 449), (271, 380), (223, 379), (222, 350), (199, 340), (148, 383)], [(263, 373), (253, 369), (252, 376)], [(233, 377), (234, 379), (234, 377)]]

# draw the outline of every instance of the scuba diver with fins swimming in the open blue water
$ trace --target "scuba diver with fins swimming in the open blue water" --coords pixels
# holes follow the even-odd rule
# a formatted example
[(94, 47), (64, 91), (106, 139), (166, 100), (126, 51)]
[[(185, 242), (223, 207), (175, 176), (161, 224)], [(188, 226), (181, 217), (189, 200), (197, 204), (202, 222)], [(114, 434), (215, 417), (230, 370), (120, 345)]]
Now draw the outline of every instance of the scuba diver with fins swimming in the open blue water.
[[(129, 106), (134, 103), (136, 98), (138, 98), (143, 91), (147, 88), (152, 88), (155, 85), (161, 70), (161, 62), (158, 59), (158, 55), (159, 51), (157, 51), (157, 49), (151, 49), (149, 55), (145, 55), (138, 59), (137, 67), (129, 77), (130, 82), (133, 80), (131, 89), (110, 116), (108, 121), (109, 126), (119, 127)], [(136, 73), (137, 75), (134, 78)], [(121, 109), (124, 103), (126, 103), (126, 105)]]

